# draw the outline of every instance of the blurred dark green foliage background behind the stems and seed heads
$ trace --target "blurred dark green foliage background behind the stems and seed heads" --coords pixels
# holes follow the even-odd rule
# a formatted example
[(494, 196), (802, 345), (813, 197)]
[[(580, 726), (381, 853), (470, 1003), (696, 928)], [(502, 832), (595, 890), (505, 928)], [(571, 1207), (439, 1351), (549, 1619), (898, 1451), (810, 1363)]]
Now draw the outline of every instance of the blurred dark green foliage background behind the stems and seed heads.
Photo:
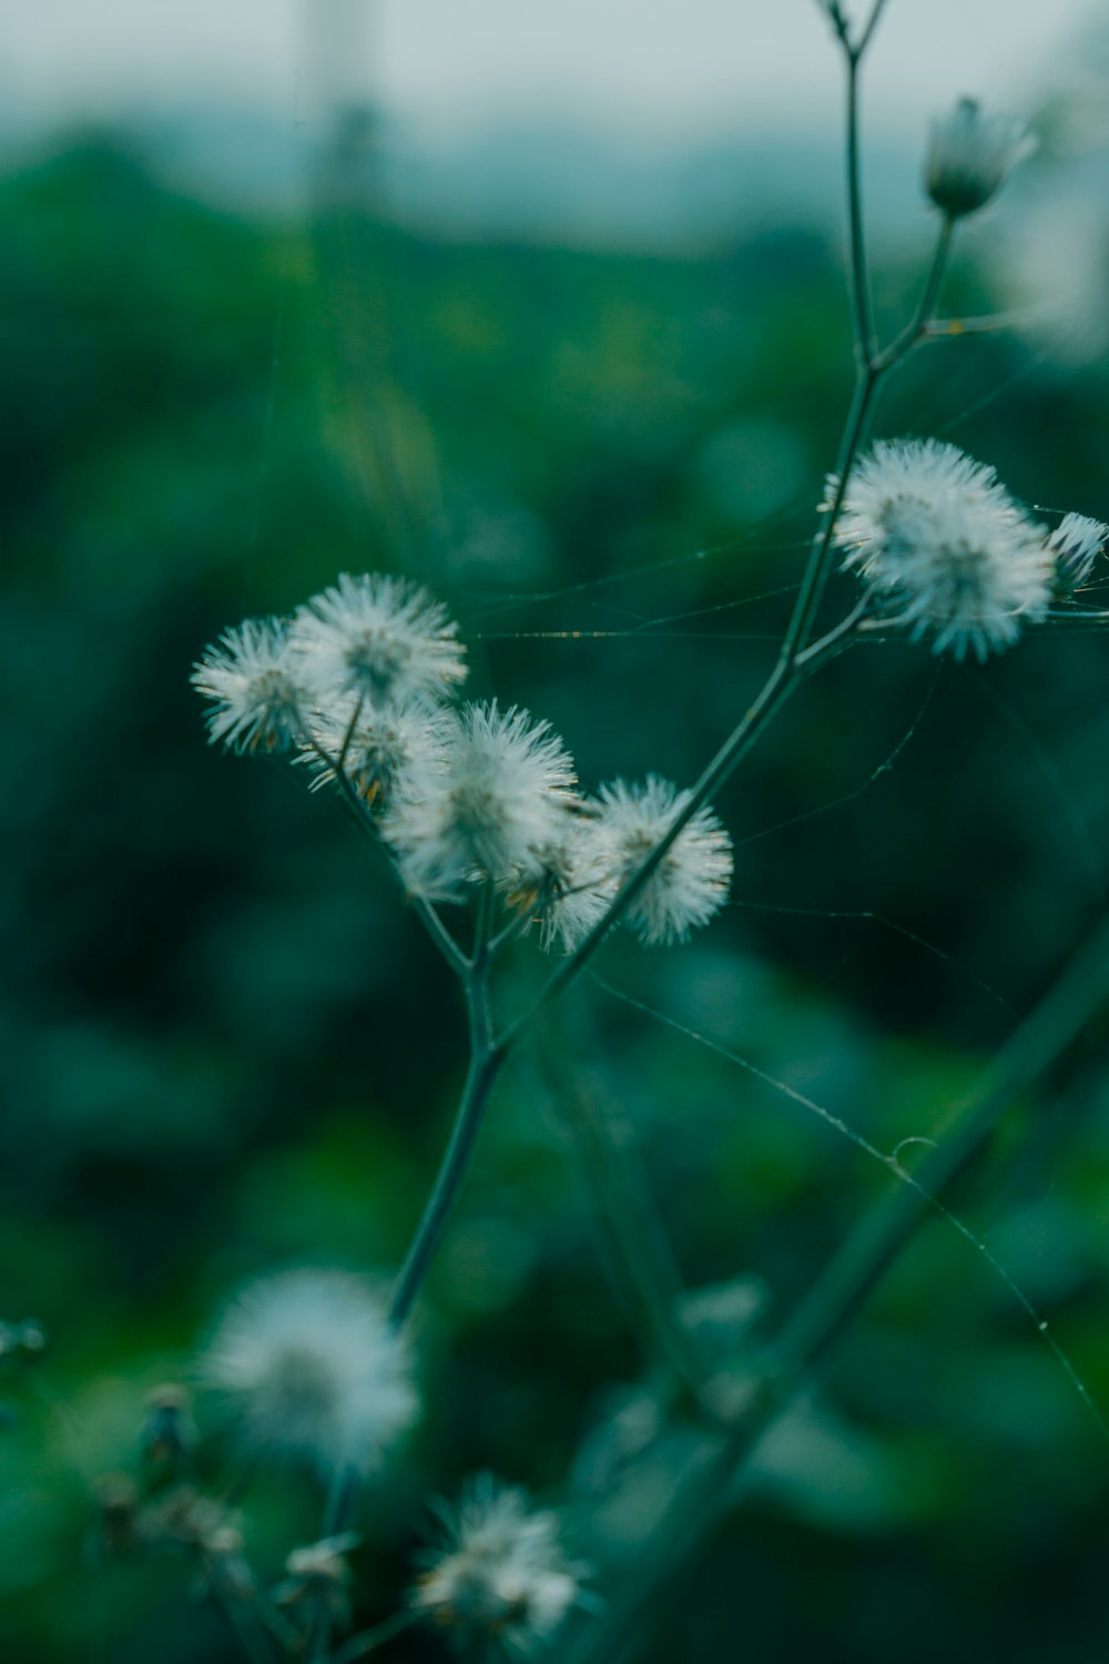
[[(549, 717), (587, 785), (687, 782), (771, 662), (850, 396), (836, 233), (464, 240), (382, 215), (374, 153), (349, 113), (293, 218), (183, 195), (106, 131), (0, 181), (0, 1315), (52, 1338), (0, 1383), (18, 1661), (236, 1656), (185, 1566), (111, 1564), (96, 1476), (135, 1466), (146, 1393), (188, 1379), (244, 1278), (389, 1275), (464, 1070), (417, 920), (299, 770), (206, 747), (193, 661), (339, 571), (402, 571), (461, 619), (472, 691)], [(953, 311), (1008, 305), (993, 235), (956, 261)], [(886, 243), (886, 326), (918, 281), (916, 245)], [(1107, 391), (1081, 331), (971, 336), (918, 354), (878, 428), (954, 439), (1044, 513), (1109, 516)], [(1104, 910), (1107, 666), (1099, 627), (984, 669), (845, 656), (718, 804), (727, 914), (687, 948), (614, 942), (600, 977), (883, 1150), (926, 1138)], [(505, 1010), (542, 970), (522, 945)], [(1099, 1404), (1104, 1042), (1013, 1110), (958, 1198)], [(569, 1503), (607, 1586), (688, 1456), (678, 1426), (632, 1461), (657, 1363), (602, 1275), (567, 1073), (685, 1283), (755, 1278), (766, 1333), (888, 1181), (742, 1068), (579, 988), (497, 1092), (431, 1278), (424, 1421), (356, 1554), (367, 1621), (462, 1474)], [(1107, 1458), (1034, 1325), (934, 1221), (652, 1656), (1101, 1657)], [(288, 1479), (256, 1491), (269, 1576), (318, 1508)]]

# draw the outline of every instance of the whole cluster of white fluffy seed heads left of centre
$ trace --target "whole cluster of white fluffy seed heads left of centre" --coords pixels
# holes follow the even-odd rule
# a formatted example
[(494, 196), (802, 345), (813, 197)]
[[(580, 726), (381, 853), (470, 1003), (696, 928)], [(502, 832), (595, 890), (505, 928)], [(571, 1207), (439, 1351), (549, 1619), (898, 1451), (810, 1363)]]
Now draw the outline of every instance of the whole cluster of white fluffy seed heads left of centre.
[[(466, 666), (457, 626), (396, 577), (341, 576), (291, 624), (249, 621), (193, 677), (211, 737), (236, 750), (291, 750), (313, 789), (341, 784), (366, 805), (412, 895), (464, 902), (492, 887), (517, 929), (570, 952), (667, 834), (688, 794), (650, 777), (577, 792), (550, 724), (497, 702), (456, 706)], [(625, 914), (642, 942), (683, 942), (722, 905), (728, 835), (700, 809)]]

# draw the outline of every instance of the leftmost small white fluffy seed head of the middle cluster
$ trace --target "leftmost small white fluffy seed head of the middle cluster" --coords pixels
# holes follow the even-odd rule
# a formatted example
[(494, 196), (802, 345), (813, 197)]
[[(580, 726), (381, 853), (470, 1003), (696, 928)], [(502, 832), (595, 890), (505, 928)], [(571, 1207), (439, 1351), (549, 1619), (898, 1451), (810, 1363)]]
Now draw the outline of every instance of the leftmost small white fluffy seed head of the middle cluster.
[(193, 687), (211, 699), (213, 744), (283, 752), (304, 730), (309, 694), (281, 619), (246, 619), (224, 631), (195, 666)]

